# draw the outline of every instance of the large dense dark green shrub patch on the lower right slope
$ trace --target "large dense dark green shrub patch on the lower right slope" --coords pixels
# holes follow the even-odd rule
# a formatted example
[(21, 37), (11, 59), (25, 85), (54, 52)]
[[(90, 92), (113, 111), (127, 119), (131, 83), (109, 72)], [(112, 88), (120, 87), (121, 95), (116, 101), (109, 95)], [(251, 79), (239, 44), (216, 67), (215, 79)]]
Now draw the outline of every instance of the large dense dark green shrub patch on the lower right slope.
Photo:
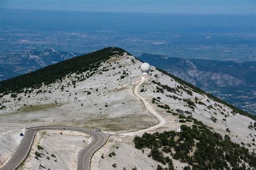
[[(151, 157), (162, 164), (166, 163), (162, 153), (165, 151), (170, 153), (173, 159), (191, 165), (192, 169), (246, 169), (245, 163), (251, 168), (256, 166), (254, 152), (250, 153), (244, 146), (235, 144), (228, 135), (223, 138), (220, 134), (212, 132), (196, 119), (194, 123), (196, 125), (192, 127), (181, 125), (180, 133), (144, 133), (142, 137), (134, 137), (133, 142), (137, 149), (150, 148)], [(165, 149), (166, 147), (169, 149)]]

